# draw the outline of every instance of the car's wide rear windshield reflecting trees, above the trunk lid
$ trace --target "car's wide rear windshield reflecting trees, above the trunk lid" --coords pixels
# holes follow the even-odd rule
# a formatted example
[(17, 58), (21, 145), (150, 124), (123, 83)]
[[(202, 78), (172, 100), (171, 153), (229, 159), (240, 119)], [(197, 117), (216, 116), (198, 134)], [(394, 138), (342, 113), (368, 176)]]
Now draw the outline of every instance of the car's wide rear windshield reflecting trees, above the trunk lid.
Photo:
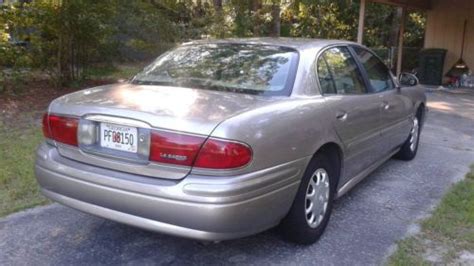
[(298, 53), (253, 44), (185, 45), (158, 57), (132, 83), (289, 95)]

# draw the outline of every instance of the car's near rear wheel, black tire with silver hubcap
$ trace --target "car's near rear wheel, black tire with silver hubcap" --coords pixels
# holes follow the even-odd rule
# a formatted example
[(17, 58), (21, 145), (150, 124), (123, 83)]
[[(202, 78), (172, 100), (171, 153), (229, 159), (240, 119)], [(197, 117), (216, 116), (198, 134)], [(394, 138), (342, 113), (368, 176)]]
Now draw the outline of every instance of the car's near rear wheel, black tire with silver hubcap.
[(283, 236), (298, 244), (312, 244), (324, 232), (335, 194), (334, 164), (317, 154), (306, 169), (298, 193), (280, 228)]

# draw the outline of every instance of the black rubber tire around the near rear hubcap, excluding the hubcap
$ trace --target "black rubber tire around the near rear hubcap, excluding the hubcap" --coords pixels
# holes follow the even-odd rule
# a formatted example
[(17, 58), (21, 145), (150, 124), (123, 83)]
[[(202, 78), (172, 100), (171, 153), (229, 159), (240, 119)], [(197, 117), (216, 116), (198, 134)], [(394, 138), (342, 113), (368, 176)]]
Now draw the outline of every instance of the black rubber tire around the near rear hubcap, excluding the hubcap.
[[(335, 165), (336, 164), (331, 162), (329, 157), (324, 154), (316, 154), (309, 163), (293, 205), (280, 224), (280, 231), (286, 240), (297, 244), (310, 245), (316, 242), (324, 233), (331, 216), (336, 191), (336, 174), (338, 171), (336, 171), (337, 169), (335, 168)], [(308, 190), (308, 184), (313, 178), (313, 173), (318, 169), (324, 169), (328, 174), (329, 199), (327, 202), (326, 212), (324, 213), (321, 222), (313, 228), (309, 225), (306, 218), (306, 193)]]

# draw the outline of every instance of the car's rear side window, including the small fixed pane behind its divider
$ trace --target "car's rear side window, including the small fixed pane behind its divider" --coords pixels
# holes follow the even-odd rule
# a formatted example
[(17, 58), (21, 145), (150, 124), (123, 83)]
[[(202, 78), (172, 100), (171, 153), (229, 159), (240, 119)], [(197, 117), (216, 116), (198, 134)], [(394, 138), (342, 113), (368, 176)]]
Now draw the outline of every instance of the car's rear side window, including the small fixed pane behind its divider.
[(324, 51), (317, 64), (323, 93), (366, 93), (362, 76), (348, 48), (334, 47)]

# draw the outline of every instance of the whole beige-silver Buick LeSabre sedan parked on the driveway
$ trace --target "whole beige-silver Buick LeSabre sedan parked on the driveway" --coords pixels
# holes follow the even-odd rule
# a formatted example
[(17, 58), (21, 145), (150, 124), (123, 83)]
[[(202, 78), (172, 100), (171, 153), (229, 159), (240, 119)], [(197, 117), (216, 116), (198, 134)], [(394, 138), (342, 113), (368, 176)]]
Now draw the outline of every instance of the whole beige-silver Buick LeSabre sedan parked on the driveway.
[(36, 177), (48, 198), (200, 240), (279, 226), (315, 242), (333, 202), (418, 149), (426, 97), (345, 41), (185, 43), (127, 83), (54, 100)]

